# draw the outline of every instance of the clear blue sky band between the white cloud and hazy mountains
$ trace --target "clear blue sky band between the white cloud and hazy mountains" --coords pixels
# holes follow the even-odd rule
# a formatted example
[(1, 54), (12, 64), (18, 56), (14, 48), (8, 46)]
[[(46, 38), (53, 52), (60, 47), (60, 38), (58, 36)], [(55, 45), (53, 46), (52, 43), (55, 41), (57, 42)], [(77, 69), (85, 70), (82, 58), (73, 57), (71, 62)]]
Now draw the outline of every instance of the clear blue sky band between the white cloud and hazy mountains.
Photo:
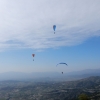
[[(100, 67), (100, 37), (93, 37), (82, 44), (36, 51), (32, 49), (0, 52), (1, 72), (71, 72)], [(35, 53), (34, 61), (31, 56)], [(56, 64), (66, 62), (68, 66)]]

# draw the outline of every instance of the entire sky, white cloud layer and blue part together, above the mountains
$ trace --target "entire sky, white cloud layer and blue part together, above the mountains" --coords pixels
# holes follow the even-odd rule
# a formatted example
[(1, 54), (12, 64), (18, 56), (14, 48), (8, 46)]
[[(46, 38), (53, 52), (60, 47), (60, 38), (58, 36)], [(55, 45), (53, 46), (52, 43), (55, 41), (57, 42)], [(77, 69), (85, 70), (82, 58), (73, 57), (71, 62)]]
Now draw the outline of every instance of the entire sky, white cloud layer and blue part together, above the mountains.
[(99, 68), (99, 10), (99, 0), (1, 0), (0, 73)]

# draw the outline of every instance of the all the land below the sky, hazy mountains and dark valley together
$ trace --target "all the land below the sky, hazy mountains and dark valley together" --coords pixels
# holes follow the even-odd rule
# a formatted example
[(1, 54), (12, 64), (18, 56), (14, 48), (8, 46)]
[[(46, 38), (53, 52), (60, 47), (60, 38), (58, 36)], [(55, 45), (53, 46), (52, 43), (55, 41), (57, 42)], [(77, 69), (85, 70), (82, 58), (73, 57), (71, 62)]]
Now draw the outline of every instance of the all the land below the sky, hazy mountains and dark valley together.
[[(31, 73), (33, 75), (31, 79), (29, 74), (9, 72), (13, 77), (9, 80), (7, 77), (0, 81), (0, 100), (83, 100), (78, 99), (81, 94), (87, 95), (88, 100), (100, 100), (98, 70), (83, 70), (77, 74), (73, 72), (74, 76), (71, 76), (72, 73), (65, 73), (65, 75), (55, 73), (57, 75), (54, 77), (49, 76), (52, 73)], [(15, 74), (17, 77), (14, 76)], [(20, 78), (18, 74), (29, 76)], [(34, 78), (34, 75), (37, 74), (39, 74), (38, 77)], [(42, 77), (40, 77), (41, 74), (43, 74)], [(8, 73), (3, 75), (8, 76)], [(67, 75), (69, 76), (67, 77)], [(16, 79), (14, 79), (15, 77)]]

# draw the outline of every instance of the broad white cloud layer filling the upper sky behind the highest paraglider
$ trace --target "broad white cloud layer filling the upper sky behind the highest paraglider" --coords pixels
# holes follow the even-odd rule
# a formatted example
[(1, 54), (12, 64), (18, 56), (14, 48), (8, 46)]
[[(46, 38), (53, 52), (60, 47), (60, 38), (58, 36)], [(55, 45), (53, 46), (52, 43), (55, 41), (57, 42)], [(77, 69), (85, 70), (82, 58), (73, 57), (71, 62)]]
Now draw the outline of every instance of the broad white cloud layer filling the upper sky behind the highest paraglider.
[(99, 0), (0, 0), (1, 50), (76, 45), (99, 30)]

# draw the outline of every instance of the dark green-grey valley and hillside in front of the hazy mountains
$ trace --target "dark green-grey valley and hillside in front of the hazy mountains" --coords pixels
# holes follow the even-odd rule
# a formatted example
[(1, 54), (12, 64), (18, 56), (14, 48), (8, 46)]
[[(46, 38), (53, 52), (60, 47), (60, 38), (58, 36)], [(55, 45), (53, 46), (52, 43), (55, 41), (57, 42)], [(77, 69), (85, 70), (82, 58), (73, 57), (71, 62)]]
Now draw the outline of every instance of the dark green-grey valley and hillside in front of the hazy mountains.
[(0, 81), (0, 100), (78, 100), (80, 94), (100, 100), (100, 76), (76, 81)]

